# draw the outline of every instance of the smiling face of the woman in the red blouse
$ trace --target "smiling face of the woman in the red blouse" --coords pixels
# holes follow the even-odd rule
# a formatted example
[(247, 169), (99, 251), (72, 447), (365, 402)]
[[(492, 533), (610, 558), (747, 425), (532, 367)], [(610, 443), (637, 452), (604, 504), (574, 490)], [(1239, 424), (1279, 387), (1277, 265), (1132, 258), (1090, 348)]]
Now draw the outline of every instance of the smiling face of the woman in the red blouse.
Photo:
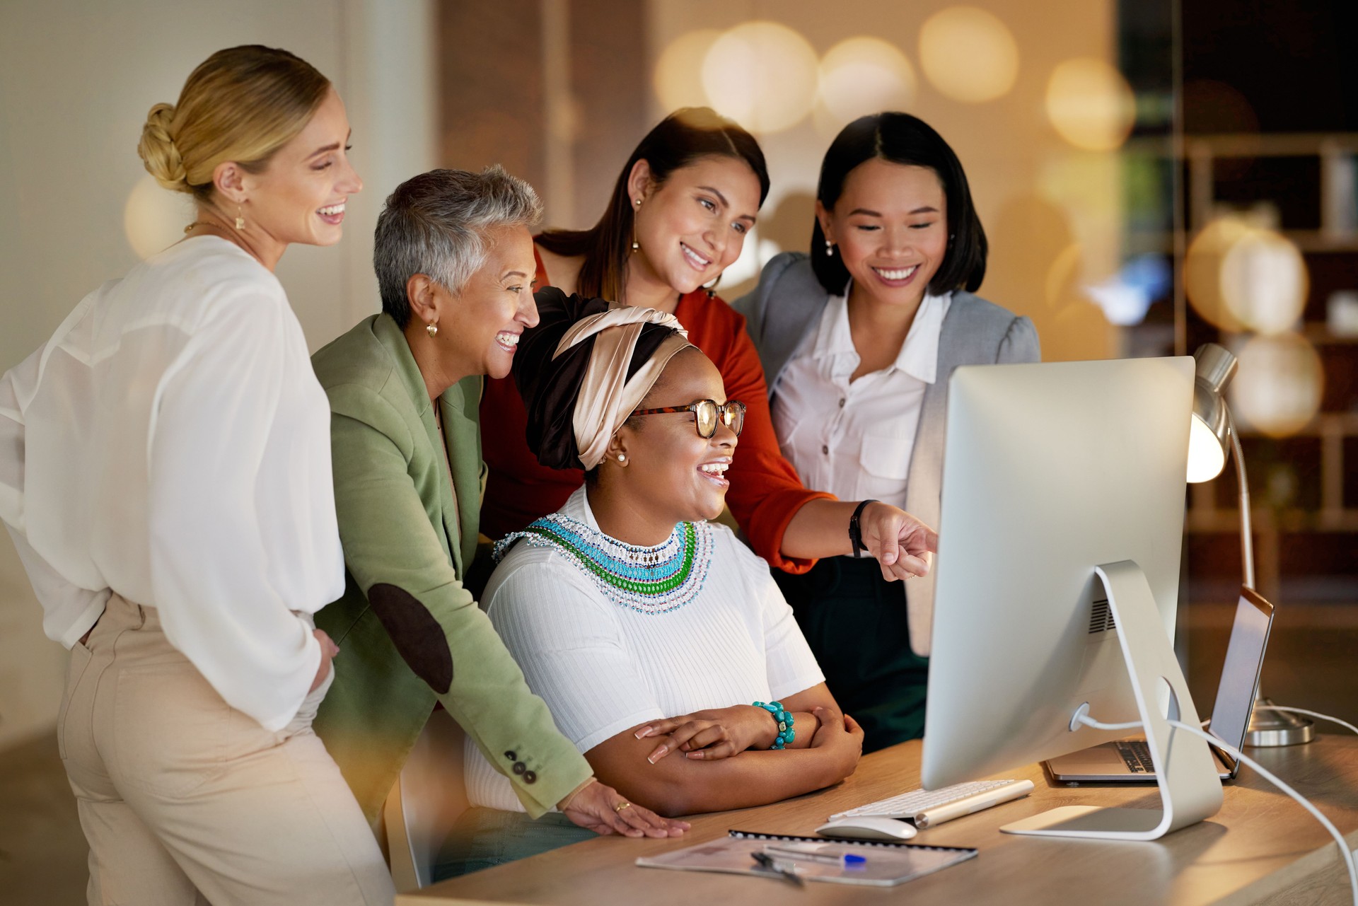
[(712, 283), (740, 257), (759, 213), (759, 178), (739, 158), (699, 158), (659, 185), (638, 160), (627, 189), (640, 246), (629, 280), (679, 295)]

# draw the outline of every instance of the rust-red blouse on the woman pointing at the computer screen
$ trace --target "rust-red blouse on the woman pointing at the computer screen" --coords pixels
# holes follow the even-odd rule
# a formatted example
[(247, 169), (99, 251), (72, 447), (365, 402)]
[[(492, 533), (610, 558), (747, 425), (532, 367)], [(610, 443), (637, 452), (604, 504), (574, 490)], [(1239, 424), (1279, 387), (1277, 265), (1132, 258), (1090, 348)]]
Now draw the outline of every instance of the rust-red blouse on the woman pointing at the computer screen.
[[(538, 285), (551, 285), (540, 255)], [(744, 315), (698, 289), (679, 299), (675, 316), (689, 330), (689, 341), (717, 365), (727, 398), (739, 399), (748, 407), (735, 462), (727, 471), (731, 479), (727, 505), (756, 554), (785, 572), (811, 569), (815, 560), (788, 560), (778, 553), (782, 535), (803, 504), (835, 497), (803, 488), (797, 470), (778, 451), (769, 414), (769, 388), (759, 353), (746, 333)], [(524, 440), (527, 427), (528, 413), (513, 378), (486, 380), (481, 398), (481, 447), (488, 467), (481, 531), (492, 539), (555, 512), (584, 484), (584, 473), (579, 469), (547, 469), (538, 463)]]

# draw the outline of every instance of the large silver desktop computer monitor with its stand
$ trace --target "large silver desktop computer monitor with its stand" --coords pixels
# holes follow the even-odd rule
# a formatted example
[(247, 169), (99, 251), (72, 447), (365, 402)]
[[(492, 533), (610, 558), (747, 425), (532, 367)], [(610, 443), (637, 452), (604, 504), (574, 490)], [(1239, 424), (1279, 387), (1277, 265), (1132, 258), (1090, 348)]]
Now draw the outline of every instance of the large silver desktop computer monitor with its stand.
[[(959, 368), (948, 391), (926, 789), (1131, 735), (1162, 808), (1073, 805), (1010, 833), (1154, 839), (1221, 808), (1173, 653), (1194, 360)], [(1090, 791), (1096, 796), (1096, 791)]]

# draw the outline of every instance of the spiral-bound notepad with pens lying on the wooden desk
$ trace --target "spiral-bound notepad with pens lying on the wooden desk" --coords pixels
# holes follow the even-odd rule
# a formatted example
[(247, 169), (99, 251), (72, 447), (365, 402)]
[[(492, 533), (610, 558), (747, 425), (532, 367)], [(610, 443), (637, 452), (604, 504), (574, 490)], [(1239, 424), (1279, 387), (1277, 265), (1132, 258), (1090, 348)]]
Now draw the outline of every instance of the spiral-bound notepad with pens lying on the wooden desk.
[(733, 875), (760, 875), (754, 853), (774, 841), (813, 842), (831, 846), (828, 852), (854, 853), (864, 857), (861, 864), (835, 865), (824, 861), (796, 861), (797, 875), (804, 880), (832, 884), (868, 884), (895, 887), (915, 877), (972, 858), (975, 849), (961, 846), (922, 846), (876, 841), (839, 842), (823, 837), (796, 837), (790, 834), (758, 834), (744, 830), (728, 831), (724, 839), (694, 844), (660, 856), (641, 857), (644, 868), (672, 868), (678, 871), (727, 872)]

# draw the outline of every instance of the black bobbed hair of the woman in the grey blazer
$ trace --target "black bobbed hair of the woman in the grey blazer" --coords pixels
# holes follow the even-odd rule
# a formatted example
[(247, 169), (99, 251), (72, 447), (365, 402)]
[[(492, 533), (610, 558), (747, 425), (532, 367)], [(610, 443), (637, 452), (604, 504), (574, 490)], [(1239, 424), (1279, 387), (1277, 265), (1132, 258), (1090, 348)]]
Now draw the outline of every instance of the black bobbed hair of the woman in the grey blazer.
[[(961, 162), (934, 129), (909, 113), (877, 113), (860, 117), (845, 126), (820, 164), (816, 200), (826, 211), (835, 206), (843, 193), (849, 173), (873, 158), (913, 167), (929, 167), (938, 174), (948, 205), (948, 251), (938, 273), (929, 281), (929, 292), (941, 295), (953, 289), (974, 292), (986, 277), (986, 231), (971, 204), (971, 187)], [(811, 230), (811, 268), (826, 292), (841, 293), (849, 283), (843, 258), (826, 251), (826, 234), (816, 220)]]

